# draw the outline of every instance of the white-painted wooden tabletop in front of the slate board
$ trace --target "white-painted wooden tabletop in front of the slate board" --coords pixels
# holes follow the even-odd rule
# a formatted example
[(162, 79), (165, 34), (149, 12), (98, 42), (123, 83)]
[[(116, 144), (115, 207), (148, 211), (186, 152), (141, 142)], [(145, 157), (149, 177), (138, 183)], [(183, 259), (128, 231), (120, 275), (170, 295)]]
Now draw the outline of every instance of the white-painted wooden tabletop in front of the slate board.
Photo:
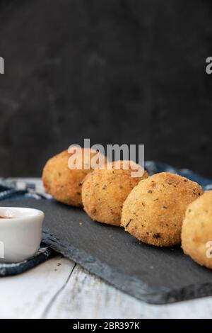
[(212, 297), (149, 305), (57, 256), (0, 278), (0, 318), (211, 318)]

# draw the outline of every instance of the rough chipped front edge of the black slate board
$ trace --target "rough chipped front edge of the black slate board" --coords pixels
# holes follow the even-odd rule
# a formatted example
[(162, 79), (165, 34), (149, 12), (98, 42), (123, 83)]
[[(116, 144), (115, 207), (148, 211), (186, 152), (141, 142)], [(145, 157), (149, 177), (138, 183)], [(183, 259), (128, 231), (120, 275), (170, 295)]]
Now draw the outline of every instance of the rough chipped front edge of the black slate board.
[[(66, 258), (75, 261), (90, 273), (94, 273), (103, 280), (146, 303), (162, 305), (176, 303), (182, 300), (192, 300), (212, 295), (212, 283), (202, 283), (186, 286), (185, 288), (170, 289), (166, 287), (153, 288), (143, 283), (139, 278), (132, 278), (84, 252), (71, 244), (58, 239), (47, 230), (43, 231), (43, 242)], [(63, 249), (61, 249), (61, 247)]]

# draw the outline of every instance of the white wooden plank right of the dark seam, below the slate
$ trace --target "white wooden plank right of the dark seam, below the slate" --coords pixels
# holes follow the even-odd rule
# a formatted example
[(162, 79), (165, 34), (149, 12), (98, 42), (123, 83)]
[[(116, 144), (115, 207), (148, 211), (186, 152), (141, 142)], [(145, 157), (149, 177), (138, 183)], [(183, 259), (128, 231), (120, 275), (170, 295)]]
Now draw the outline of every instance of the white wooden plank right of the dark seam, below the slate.
[(212, 298), (149, 305), (109, 286), (76, 265), (47, 318), (211, 318)]

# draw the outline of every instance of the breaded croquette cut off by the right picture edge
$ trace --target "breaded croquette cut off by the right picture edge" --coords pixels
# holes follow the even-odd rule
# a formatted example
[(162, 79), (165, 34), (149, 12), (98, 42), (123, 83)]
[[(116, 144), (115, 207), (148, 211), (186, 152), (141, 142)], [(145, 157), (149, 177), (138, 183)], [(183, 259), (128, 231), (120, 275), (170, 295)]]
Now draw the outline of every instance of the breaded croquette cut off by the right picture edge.
[(212, 191), (188, 206), (182, 223), (182, 249), (198, 264), (212, 269)]

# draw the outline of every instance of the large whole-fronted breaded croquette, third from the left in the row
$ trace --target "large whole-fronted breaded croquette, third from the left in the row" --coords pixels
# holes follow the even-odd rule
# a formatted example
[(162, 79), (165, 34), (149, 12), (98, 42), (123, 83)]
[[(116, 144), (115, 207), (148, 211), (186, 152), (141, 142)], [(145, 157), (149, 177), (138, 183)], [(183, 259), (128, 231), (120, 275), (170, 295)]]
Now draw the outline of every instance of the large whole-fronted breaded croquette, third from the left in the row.
[(129, 193), (122, 210), (122, 226), (147, 244), (179, 244), (187, 206), (202, 193), (199, 184), (177, 174), (154, 174)]

